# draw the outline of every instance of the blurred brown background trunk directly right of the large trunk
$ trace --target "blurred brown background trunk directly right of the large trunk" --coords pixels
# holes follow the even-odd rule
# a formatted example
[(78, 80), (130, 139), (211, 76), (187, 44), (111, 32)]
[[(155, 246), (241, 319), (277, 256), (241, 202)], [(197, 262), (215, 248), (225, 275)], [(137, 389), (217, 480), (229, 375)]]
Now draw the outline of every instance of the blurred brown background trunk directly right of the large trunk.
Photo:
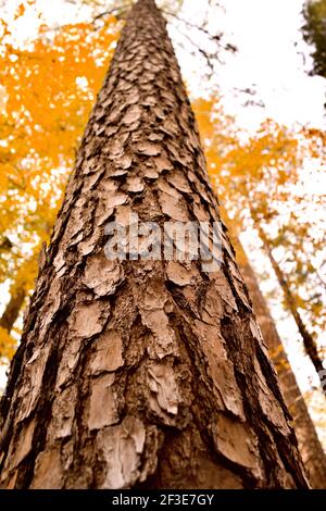
[(237, 237), (233, 236), (233, 244), (237, 253), (237, 262), (247, 284), (258, 324), (262, 331), (263, 339), (267, 345), (269, 356), (276, 367), (280, 389), (285, 401), (293, 416), (294, 431), (299, 441), (299, 450), (311, 485), (315, 489), (326, 488), (326, 457), (317, 437), (314, 424), (309, 414), (306, 404), (297, 384), (296, 376), (289, 364), (281, 340), (269, 313), (267, 303), (260, 290), (259, 283), (244, 249)]

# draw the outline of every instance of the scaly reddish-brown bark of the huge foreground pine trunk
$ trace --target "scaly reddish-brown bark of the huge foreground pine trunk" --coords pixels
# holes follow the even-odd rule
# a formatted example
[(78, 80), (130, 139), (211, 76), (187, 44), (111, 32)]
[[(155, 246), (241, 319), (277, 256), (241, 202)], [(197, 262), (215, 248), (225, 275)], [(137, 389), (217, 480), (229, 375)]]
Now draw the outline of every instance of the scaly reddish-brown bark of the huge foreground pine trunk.
[(2, 406), (2, 487), (306, 488), (224, 229), (215, 273), (108, 261), (104, 225), (131, 211), (218, 221), (153, 0), (131, 10), (42, 258)]

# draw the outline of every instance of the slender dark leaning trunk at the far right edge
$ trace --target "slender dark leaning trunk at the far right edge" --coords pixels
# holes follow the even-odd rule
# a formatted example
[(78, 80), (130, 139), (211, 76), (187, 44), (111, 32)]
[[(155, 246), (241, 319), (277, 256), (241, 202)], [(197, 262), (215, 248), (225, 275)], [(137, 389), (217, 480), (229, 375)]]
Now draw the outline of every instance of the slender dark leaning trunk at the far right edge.
[(319, 357), (317, 345), (316, 345), (313, 336), (310, 334), (310, 332), (308, 331), (305, 324), (302, 321), (302, 317), (301, 317), (301, 315), (298, 311), (296, 300), (294, 300), (294, 297), (291, 292), (291, 289), (290, 289), (290, 286), (287, 282), (287, 278), (286, 278), (281, 267), (279, 266), (279, 264), (277, 263), (276, 259), (273, 256), (273, 252), (272, 252), (272, 249), (271, 249), (271, 242), (268, 240), (268, 237), (267, 237), (266, 233), (264, 232), (264, 229), (260, 225), (256, 225), (256, 228), (258, 228), (260, 238), (263, 242), (265, 253), (267, 254), (267, 257), (271, 261), (272, 267), (275, 272), (277, 281), (278, 281), (278, 283), (281, 287), (281, 290), (284, 292), (284, 297), (285, 297), (285, 300), (286, 300), (287, 308), (290, 311), (290, 313), (292, 314), (293, 320), (297, 324), (298, 331), (299, 331), (299, 333), (302, 337), (305, 352), (306, 352), (308, 357), (310, 358), (310, 360), (312, 361), (313, 366), (315, 367), (315, 370), (317, 372), (317, 375), (318, 375), (318, 377), (321, 379), (321, 383), (322, 383), (322, 389), (323, 389), (323, 391), (326, 396), (326, 387), (325, 387), (325, 371), (326, 370), (325, 370), (325, 367), (323, 365), (323, 361)]

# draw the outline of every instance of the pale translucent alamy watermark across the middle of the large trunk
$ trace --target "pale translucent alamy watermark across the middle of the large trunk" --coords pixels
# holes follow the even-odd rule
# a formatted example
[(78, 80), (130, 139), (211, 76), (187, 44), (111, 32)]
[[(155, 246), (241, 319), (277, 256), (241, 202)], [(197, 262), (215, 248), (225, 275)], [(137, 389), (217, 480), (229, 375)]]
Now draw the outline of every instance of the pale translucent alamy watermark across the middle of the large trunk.
[(216, 272), (222, 264), (220, 222), (140, 222), (136, 213), (122, 224), (110, 222), (105, 234), (105, 257), (110, 261), (195, 261), (204, 272)]

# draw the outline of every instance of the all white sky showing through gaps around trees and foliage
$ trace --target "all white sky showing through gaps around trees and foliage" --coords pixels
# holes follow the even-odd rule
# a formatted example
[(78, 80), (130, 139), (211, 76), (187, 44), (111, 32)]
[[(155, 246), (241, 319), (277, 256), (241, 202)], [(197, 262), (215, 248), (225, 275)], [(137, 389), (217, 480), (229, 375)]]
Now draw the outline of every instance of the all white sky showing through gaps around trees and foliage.
[[(43, 5), (46, 21), (62, 24), (76, 20), (73, 2), (64, 0), (38, 0)], [(10, 0), (7, 5), (13, 9), (17, 0)], [(166, 5), (166, 1), (158, 1)], [(179, 17), (189, 24), (200, 24), (204, 21), (208, 0), (185, 0)], [(211, 4), (216, 2), (211, 0)], [(302, 41), (300, 27), (303, 0), (221, 0), (225, 9), (216, 8), (208, 20), (211, 34), (223, 30), (225, 39), (236, 45), (236, 54), (223, 53), (224, 63), (216, 65), (214, 78), (210, 86), (200, 72), (200, 58), (189, 57), (189, 40), (180, 35), (180, 30), (200, 45), (211, 42), (196, 28), (171, 17), (170, 33), (175, 41), (177, 57), (184, 78), (192, 96), (208, 95), (209, 87), (218, 87), (223, 96), (226, 111), (236, 116), (241, 127), (254, 130), (266, 117), (287, 125), (301, 124), (325, 127), (324, 108), (325, 80), (321, 77), (309, 76), (312, 66), (310, 49)], [(108, 4), (112, 4), (108, 2)], [(167, 9), (167, 8), (166, 8)], [(212, 12), (212, 11), (211, 11)], [(80, 16), (88, 13), (82, 11)], [(20, 27), (20, 37), (33, 36), (35, 20)], [(186, 46), (181, 49), (179, 42)], [(215, 48), (215, 47), (214, 47)], [(203, 62), (201, 61), (201, 64)], [(240, 90), (250, 88), (255, 96), (248, 96)], [(254, 99), (260, 105), (246, 105), (249, 99)], [(311, 183), (311, 191), (316, 188), (326, 189), (326, 183)], [(258, 266), (266, 261), (259, 257)], [(2, 288), (1, 302), (7, 295)], [(1, 311), (0, 311), (1, 312)], [(284, 317), (279, 307), (273, 308), (273, 314), (278, 319), (279, 333), (287, 339), (290, 361), (296, 370), (298, 382), (303, 390), (310, 386), (313, 372), (303, 357), (298, 342), (296, 326)], [(0, 369), (0, 387), (3, 386), (4, 372)], [(314, 383), (316, 383), (314, 381)]]

